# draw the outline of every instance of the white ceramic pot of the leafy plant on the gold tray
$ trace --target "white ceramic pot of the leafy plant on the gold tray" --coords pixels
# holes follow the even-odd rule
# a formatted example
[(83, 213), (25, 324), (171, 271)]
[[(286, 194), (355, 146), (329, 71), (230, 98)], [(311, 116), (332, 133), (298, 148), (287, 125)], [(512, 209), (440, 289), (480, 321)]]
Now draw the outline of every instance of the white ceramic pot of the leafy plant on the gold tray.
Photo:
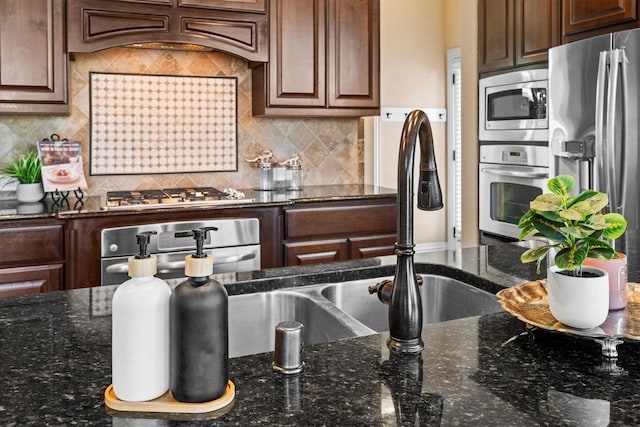
[(609, 276), (606, 271), (583, 266), (598, 277), (559, 274), (560, 268), (547, 270), (549, 309), (559, 322), (576, 329), (600, 326), (609, 314)]

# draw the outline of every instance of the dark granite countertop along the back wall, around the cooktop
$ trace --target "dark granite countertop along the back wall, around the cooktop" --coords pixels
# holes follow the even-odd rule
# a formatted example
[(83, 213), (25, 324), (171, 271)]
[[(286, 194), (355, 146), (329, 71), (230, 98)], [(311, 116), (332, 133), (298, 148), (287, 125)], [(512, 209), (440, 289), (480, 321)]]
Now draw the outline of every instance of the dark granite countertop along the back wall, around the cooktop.
[(318, 185), (306, 186), (302, 191), (257, 191), (240, 190), (245, 193), (246, 201), (221, 205), (184, 205), (180, 207), (157, 207), (147, 209), (103, 210), (104, 196), (84, 197), (81, 201), (70, 193), (68, 199), (53, 201), (48, 195), (42, 202), (18, 203), (17, 200), (0, 200), (0, 220), (27, 218), (79, 218), (83, 216), (128, 215), (132, 212), (153, 213), (154, 211), (203, 211), (228, 209), (234, 207), (287, 206), (294, 203), (322, 201), (360, 200), (395, 196), (396, 190), (373, 185)]

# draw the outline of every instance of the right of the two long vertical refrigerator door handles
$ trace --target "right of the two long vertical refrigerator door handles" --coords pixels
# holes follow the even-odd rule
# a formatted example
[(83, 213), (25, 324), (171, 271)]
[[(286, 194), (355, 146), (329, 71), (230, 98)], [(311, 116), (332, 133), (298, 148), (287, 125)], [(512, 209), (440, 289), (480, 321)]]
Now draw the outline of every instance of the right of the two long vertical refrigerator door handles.
[(616, 101), (618, 94), (618, 73), (620, 65), (620, 49), (613, 49), (609, 59), (609, 87), (607, 90), (607, 129), (604, 144), (604, 174), (607, 175), (607, 186), (604, 191), (609, 195), (609, 207), (618, 212), (618, 185), (616, 174), (615, 137), (616, 137)]

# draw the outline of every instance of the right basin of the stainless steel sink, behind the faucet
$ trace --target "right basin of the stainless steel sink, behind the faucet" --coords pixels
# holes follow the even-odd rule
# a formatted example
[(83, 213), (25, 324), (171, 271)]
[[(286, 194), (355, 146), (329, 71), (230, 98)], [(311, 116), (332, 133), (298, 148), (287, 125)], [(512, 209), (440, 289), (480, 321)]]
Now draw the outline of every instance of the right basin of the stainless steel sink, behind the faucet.
[[(450, 277), (429, 274), (421, 276), (424, 280), (420, 287), (423, 324), (480, 316), (502, 310), (496, 296), (489, 292)], [(383, 279), (328, 285), (322, 289), (322, 295), (367, 327), (377, 332), (388, 331), (388, 307), (368, 292), (370, 285)]]

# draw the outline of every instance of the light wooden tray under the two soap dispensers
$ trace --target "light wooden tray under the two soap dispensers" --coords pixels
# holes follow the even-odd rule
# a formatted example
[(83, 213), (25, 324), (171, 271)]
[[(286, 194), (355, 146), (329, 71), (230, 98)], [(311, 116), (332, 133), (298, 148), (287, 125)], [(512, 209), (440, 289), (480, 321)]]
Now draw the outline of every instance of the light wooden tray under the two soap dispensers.
[[(104, 392), (104, 403), (107, 407), (122, 412), (154, 412), (172, 414), (205, 414), (221, 411), (231, 405), (235, 399), (236, 388), (231, 380), (227, 383), (227, 390), (216, 400), (203, 403), (178, 402), (171, 395), (171, 391), (146, 402), (125, 402), (118, 399), (113, 391), (113, 384)], [(226, 413), (226, 412), (223, 412)], [(221, 414), (222, 415), (222, 414)]]

